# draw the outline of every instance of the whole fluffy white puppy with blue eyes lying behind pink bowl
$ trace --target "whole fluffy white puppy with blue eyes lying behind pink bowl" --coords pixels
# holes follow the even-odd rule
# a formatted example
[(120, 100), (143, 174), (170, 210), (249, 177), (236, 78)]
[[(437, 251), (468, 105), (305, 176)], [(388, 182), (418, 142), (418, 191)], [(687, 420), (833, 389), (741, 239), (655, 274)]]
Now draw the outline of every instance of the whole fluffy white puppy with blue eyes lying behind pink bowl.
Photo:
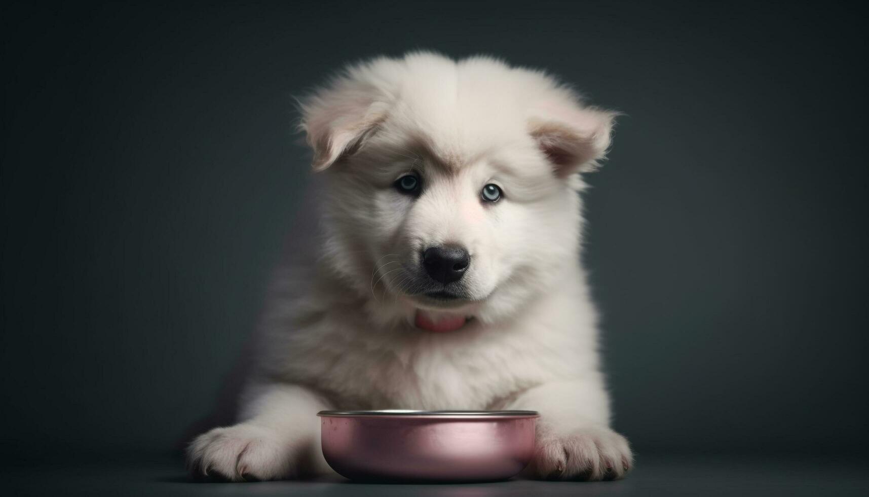
[(580, 173), (614, 113), (541, 71), (432, 53), (354, 65), (302, 102), (321, 171), (315, 262), (278, 272), (241, 422), (189, 447), (197, 474), (330, 471), (322, 409), (529, 409), (534, 477), (631, 467), (609, 427), (580, 266)]

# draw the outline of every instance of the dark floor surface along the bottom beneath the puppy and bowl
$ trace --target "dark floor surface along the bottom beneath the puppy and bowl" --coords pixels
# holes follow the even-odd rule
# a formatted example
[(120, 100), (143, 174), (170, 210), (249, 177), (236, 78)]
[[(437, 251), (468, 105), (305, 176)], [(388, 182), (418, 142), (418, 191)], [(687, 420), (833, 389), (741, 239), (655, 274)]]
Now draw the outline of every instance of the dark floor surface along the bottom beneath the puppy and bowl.
[(869, 461), (743, 456), (640, 456), (625, 480), (549, 482), (510, 480), (462, 485), (355, 484), (347, 480), (197, 483), (180, 460), (122, 458), (123, 462), (4, 467), (5, 495), (869, 495)]

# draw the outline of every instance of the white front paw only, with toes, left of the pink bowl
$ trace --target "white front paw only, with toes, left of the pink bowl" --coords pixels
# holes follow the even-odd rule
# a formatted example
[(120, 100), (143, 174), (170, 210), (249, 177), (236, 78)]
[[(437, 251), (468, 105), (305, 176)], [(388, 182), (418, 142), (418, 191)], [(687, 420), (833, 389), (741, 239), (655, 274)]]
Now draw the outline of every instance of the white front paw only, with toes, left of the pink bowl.
[(195, 478), (250, 481), (300, 475), (304, 448), (274, 429), (240, 424), (215, 428), (196, 437), (187, 451)]

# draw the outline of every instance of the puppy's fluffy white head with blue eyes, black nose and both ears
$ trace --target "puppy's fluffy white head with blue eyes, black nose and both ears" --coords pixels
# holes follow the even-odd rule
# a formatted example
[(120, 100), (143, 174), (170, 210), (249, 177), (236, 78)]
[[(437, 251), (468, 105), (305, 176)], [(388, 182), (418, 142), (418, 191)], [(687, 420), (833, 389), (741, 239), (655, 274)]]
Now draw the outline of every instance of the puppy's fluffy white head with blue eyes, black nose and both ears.
[(613, 112), (540, 71), (416, 53), (350, 67), (302, 114), (328, 177), (325, 259), (381, 318), (495, 322), (575, 274), (578, 173)]

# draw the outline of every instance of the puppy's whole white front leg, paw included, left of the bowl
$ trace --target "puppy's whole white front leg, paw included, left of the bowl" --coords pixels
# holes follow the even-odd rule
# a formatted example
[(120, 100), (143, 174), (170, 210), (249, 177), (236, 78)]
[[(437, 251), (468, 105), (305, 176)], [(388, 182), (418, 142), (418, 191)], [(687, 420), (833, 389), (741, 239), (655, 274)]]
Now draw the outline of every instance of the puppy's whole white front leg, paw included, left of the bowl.
[(318, 411), (324, 400), (303, 386), (269, 384), (249, 392), (235, 426), (196, 437), (187, 459), (194, 476), (281, 480), (331, 471), (320, 450)]

